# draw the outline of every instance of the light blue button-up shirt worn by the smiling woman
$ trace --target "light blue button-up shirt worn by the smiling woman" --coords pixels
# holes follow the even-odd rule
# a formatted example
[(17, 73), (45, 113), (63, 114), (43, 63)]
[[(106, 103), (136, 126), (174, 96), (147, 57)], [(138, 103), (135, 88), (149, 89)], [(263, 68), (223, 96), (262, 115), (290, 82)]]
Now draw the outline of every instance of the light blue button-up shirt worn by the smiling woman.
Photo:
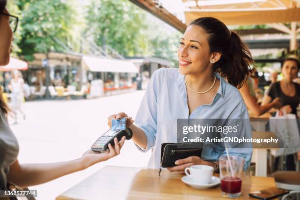
[[(141, 102), (135, 124), (142, 128), (147, 137), (147, 148), (152, 149), (148, 163), (149, 168), (160, 167), (160, 153), (162, 143), (177, 142), (177, 119), (248, 119), (249, 115), (239, 91), (220, 79), (218, 93), (211, 104), (201, 105), (189, 115), (187, 92), (184, 75), (178, 69), (161, 68), (156, 70), (150, 78), (145, 96)], [(250, 123), (244, 127), (239, 137), (251, 137)], [(241, 135), (242, 134), (242, 135)], [(250, 135), (249, 135), (250, 134)], [(239, 155), (245, 158), (245, 169), (251, 160), (252, 148), (230, 148), (230, 155)], [(215, 149), (212, 146), (203, 148), (201, 158), (216, 161), (225, 155), (225, 149)]]

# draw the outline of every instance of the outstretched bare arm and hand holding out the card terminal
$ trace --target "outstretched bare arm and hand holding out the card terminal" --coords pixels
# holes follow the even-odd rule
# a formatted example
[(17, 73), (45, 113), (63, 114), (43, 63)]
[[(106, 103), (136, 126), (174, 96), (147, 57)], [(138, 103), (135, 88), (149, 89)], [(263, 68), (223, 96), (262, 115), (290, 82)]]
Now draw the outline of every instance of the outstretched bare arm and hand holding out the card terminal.
[(64, 175), (84, 170), (98, 162), (108, 160), (120, 153), (125, 137), (118, 144), (115, 138), (115, 146), (108, 145), (109, 150), (101, 153), (87, 150), (81, 158), (65, 162), (47, 164), (20, 164), (16, 160), (11, 166), (7, 175), (7, 181), (19, 187), (39, 185), (54, 180)]

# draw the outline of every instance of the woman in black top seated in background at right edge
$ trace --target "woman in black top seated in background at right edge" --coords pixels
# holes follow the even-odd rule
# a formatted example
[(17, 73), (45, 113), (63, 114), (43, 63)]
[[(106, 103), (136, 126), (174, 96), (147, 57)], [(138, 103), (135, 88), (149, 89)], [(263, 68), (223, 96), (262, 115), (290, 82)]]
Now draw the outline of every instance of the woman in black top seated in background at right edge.
[[(297, 106), (300, 103), (300, 84), (293, 82), (294, 77), (298, 74), (300, 62), (296, 58), (287, 58), (282, 64), (283, 79), (273, 83), (267, 95), (264, 96), (262, 105), (266, 105), (276, 98), (280, 98), (283, 107), (281, 108), (281, 115), (292, 113), (297, 115)], [(278, 158), (275, 159), (275, 169)], [(286, 169), (295, 170), (295, 162), (293, 155), (286, 156)]]

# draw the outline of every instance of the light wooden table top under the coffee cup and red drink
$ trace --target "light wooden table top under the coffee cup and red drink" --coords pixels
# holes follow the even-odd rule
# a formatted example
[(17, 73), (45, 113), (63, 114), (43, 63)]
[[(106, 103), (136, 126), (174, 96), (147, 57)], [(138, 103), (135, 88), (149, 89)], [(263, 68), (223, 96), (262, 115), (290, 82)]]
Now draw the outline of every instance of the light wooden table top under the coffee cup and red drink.
[[(79, 182), (56, 200), (223, 200), (220, 185), (195, 189), (181, 181), (183, 175), (157, 169), (106, 166)], [(242, 196), (253, 199), (250, 191), (275, 187), (273, 177), (245, 176)]]

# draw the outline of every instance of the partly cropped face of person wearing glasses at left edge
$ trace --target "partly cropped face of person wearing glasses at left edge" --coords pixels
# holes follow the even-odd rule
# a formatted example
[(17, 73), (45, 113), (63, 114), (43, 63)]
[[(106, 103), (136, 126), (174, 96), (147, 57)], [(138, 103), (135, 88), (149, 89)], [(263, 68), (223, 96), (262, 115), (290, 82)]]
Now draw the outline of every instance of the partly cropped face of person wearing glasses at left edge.
[[(6, 8), (3, 13), (8, 14)], [(13, 32), (9, 25), (9, 16), (0, 14), (0, 66), (9, 63), (9, 54), (11, 53), (11, 42), (13, 40)]]

